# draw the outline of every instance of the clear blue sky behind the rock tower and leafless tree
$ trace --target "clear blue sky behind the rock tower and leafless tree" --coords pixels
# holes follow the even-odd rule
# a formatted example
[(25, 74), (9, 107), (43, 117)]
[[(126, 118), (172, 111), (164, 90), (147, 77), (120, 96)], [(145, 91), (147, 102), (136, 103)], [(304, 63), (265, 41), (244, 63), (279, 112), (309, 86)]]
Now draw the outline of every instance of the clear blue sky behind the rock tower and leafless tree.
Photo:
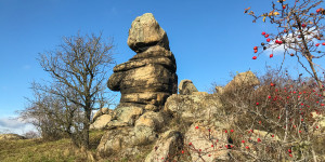
[[(114, 57), (121, 64), (135, 54), (127, 44), (128, 30), (144, 13), (153, 13), (167, 32), (179, 82), (190, 79), (199, 91), (208, 91), (212, 82), (224, 85), (231, 72), (262, 73), (265, 65), (280, 66), (278, 55), (251, 59), (252, 48), (264, 41), (261, 32), (274, 28), (251, 23), (244, 14), (248, 6), (269, 12), (271, 1), (0, 0), (0, 129), (26, 130), (8, 121), (24, 109), (24, 97), (31, 97), (30, 82), (49, 79), (36, 59), (39, 53), (54, 50), (63, 36), (103, 31), (114, 38)], [(294, 60), (287, 66), (299, 67)]]

